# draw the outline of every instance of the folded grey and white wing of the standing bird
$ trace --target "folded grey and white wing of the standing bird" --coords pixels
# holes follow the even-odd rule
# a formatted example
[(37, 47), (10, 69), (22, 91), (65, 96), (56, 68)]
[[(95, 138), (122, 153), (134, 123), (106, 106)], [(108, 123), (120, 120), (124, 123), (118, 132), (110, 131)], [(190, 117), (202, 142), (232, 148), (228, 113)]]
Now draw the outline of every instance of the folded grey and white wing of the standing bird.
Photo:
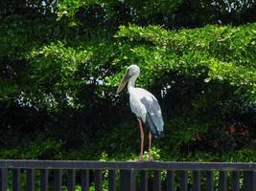
[(158, 101), (150, 92), (144, 89), (141, 89), (140, 91), (143, 92), (140, 97), (140, 102), (144, 105), (147, 111), (146, 121), (144, 122), (149, 127), (154, 137), (162, 136), (164, 121)]

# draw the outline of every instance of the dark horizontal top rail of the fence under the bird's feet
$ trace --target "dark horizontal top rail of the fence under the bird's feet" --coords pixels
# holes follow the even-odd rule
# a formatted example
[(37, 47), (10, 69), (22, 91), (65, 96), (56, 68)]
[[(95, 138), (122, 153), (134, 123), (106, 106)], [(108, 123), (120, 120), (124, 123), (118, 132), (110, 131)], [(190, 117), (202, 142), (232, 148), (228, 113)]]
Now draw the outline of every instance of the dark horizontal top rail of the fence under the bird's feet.
[(35, 169), (149, 169), (149, 170), (256, 170), (256, 162), (95, 161), (0, 159), (0, 168)]

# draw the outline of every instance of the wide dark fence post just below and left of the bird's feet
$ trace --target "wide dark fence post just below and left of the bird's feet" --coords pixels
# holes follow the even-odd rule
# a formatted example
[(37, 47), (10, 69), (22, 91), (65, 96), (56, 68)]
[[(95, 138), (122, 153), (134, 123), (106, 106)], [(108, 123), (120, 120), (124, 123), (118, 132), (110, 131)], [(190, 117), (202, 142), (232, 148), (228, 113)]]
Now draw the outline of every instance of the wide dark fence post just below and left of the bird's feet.
[(120, 187), (122, 191), (135, 191), (135, 172), (131, 170), (120, 170)]

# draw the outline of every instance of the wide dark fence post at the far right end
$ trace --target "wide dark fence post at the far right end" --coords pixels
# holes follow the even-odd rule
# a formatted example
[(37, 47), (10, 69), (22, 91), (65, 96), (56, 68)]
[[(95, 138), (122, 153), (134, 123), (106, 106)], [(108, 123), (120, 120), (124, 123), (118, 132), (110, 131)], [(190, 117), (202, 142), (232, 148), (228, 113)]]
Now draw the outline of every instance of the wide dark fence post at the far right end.
[(243, 191), (256, 191), (256, 172), (244, 171)]

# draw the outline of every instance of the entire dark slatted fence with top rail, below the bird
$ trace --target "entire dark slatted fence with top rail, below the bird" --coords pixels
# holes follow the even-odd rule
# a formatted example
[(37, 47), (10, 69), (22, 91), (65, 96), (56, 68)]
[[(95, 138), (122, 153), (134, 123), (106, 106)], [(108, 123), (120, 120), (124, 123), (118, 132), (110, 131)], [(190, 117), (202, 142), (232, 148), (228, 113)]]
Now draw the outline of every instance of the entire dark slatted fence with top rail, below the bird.
[(103, 181), (109, 191), (256, 191), (256, 163), (0, 159), (1, 191), (24, 189), (21, 180), (28, 191), (101, 191)]

